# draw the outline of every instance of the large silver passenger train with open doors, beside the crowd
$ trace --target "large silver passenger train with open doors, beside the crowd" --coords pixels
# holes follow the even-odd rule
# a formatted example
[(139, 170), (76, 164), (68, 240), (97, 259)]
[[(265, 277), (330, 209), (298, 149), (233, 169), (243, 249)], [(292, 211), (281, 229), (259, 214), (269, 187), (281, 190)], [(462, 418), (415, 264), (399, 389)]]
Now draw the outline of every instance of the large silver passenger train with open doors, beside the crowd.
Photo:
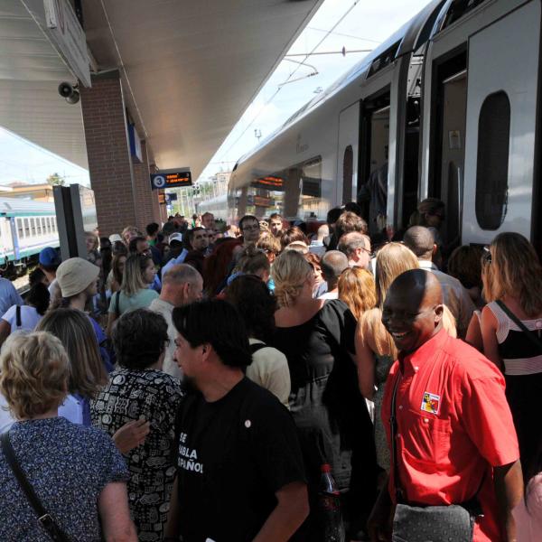
[(325, 220), (359, 201), (404, 229), (444, 201), (443, 237), (540, 246), (541, 0), (435, 0), (242, 156), (229, 220)]

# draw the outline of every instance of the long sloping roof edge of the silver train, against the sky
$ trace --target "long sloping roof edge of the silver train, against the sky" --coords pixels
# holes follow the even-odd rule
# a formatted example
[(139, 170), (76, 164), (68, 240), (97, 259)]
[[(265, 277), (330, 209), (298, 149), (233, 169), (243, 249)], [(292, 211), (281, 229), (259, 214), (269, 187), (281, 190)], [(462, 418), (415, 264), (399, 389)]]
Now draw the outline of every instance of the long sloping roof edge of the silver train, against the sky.
[[(238, 160), (238, 164), (246, 160), (248, 156), (256, 154), (258, 150), (273, 140), (276, 135), (284, 132), (289, 126), (294, 125), (297, 120), (304, 117), (304, 114), (313, 110), (315, 107), (319, 107), (328, 98), (331, 98), (340, 92), (341, 89), (347, 87), (353, 79), (358, 79), (360, 77), (366, 79), (367, 77), (370, 77), (372, 73), (375, 73), (384, 67), (378, 67), (378, 64), (384, 64), (384, 61), (388, 61), (388, 63), (385, 64), (388, 65), (390, 61), (397, 60), (409, 52), (417, 51), (429, 39), (435, 25), (435, 19), (441, 13), (441, 9), (446, 1), (447, 0), (433, 0), (433, 2), (426, 5), (422, 11), (412, 17), (407, 23), (403, 24), (403, 26), (393, 33), (388, 40), (381, 43), (377, 49), (363, 57), (363, 59), (346, 73), (341, 75), (341, 77), (330, 87), (295, 111), (292, 117), (289, 117), (282, 126), (268, 135), (259, 145), (257, 145), (257, 147), (241, 156)], [(376, 70), (371, 73), (371, 69), (375, 67)], [(238, 164), (236, 164), (236, 167)]]

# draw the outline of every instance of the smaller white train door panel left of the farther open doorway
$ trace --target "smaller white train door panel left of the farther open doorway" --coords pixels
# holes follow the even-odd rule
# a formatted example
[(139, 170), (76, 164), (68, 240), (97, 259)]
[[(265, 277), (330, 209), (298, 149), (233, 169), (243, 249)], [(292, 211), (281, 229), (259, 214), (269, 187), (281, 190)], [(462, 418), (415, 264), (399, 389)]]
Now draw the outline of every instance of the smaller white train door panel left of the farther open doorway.
[(356, 199), (359, 132), (360, 102), (357, 102), (343, 109), (339, 114), (336, 176), (336, 201), (338, 205), (344, 205)]

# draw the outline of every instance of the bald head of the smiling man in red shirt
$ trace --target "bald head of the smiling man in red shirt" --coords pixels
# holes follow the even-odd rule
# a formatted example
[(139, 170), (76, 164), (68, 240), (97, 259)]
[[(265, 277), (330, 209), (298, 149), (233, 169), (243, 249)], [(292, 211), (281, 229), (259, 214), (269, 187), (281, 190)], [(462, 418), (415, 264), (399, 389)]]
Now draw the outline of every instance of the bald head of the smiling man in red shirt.
[(382, 322), (397, 349), (412, 352), (440, 331), (443, 311), (443, 292), (435, 275), (411, 269), (389, 287)]

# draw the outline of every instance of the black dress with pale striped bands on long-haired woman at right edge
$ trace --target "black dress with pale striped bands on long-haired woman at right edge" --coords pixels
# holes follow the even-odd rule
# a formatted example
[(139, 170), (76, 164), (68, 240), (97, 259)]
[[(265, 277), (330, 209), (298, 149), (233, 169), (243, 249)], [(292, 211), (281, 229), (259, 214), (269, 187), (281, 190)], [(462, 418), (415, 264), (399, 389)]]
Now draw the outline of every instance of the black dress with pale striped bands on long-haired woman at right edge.
[[(542, 348), (529, 341), (497, 303), (487, 306), (498, 322), (496, 336), (504, 364), (506, 397), (518, 433), (521, 463), (528, 466), (536, 460), (542, 437)], [(542, 341), (542, 318), (521, 322)]]

